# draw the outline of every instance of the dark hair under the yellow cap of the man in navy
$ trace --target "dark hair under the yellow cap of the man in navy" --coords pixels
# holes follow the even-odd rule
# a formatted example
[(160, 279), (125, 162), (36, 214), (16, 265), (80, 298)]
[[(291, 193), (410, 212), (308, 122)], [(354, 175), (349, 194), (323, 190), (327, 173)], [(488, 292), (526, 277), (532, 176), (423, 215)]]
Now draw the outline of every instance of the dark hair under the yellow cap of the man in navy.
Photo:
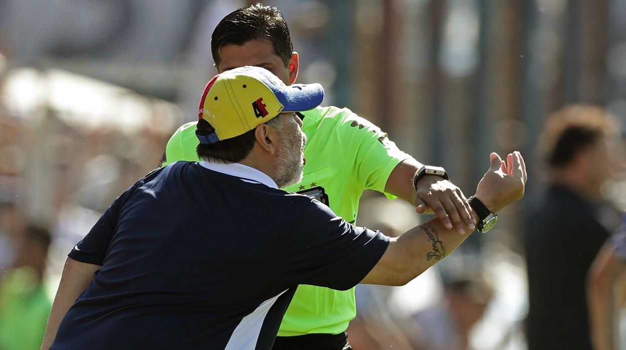
[[(275, 117), (270, 119), (265, 124), (271, 125), (275, 129), (281, 129), (282, 124), (280, 124), (279, 120), (280, 119), (278, 117)], [(242, 159), (246, 158), (248, 154), (250, 154), (250, 151), (252, 151), (252, 148), (254, 148), (254, 143), (256, 142), (254, 130), (255, 129), (252, 129), (247, 133), (235, 136), (234, 138), (218, 141), (217, 143), (198, 144), (198, 147), (196, 148), (198, 158), (212, 163), (238, 163)], [(205, 121), (204, 119), (200, 119), (200, 121), (198, 121), (196, 133), (200, 135), (208, 135), (213, 132), (215, 132), (215, 129), (213, 129), (208, 121)]]

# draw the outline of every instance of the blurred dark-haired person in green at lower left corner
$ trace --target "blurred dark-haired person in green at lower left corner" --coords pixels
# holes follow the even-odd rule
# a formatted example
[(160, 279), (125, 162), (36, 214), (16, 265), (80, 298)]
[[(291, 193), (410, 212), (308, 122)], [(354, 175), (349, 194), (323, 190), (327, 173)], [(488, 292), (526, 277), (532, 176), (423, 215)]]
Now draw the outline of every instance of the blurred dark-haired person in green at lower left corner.
[(39, 349), (52, 306), (43, 284), (50, 234), (28, 226), (19, 236), (14, 267), (0, 280), (0, 349)]

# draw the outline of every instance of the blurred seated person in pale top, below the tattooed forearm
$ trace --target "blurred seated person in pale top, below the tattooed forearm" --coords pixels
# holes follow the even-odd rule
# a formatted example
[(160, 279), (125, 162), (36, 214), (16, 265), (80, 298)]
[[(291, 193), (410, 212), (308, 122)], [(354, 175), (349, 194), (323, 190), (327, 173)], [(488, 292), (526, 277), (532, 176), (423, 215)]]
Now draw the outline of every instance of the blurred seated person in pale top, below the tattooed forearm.
[[(444, 302), (416, 312), (407, 332), (414, 349), (468, 350), (469, 335), (485, 314), (493, 288), (480, 275), (444, 279)], [(408, 328), (408, 327), (407, 327)]]

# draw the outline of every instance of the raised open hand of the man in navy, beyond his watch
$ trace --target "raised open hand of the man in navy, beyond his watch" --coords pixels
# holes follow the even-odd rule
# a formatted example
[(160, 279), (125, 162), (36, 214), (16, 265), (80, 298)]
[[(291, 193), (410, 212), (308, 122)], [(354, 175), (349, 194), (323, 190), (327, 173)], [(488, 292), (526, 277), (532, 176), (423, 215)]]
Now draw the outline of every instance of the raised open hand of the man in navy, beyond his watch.
[(506, 156), (506, 163), (491, 153), (491, 164), (478, 183), (475, 197), (493, 212), (521, 199), (526, 186), (526, 164), (518, 151)]

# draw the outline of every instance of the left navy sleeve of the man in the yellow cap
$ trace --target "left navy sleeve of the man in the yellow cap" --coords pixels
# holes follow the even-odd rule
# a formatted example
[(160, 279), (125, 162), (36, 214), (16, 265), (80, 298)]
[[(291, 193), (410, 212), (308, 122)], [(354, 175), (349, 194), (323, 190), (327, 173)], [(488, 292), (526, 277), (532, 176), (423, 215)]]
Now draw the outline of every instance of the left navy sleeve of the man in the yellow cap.
[(138, 183), (127, 189), (119, 197), (113, 201), (96, 224), (86, 234), (80, 242), (78, 242), (69, 252), (68, 256), (80, 262), (87, 264), (102, 265), (105, 260), (106, 252), (109, 249), (115, 228), (117, 227), (120, 216), (121, 207), (128, 200), (128, 197), (135, 191)]

